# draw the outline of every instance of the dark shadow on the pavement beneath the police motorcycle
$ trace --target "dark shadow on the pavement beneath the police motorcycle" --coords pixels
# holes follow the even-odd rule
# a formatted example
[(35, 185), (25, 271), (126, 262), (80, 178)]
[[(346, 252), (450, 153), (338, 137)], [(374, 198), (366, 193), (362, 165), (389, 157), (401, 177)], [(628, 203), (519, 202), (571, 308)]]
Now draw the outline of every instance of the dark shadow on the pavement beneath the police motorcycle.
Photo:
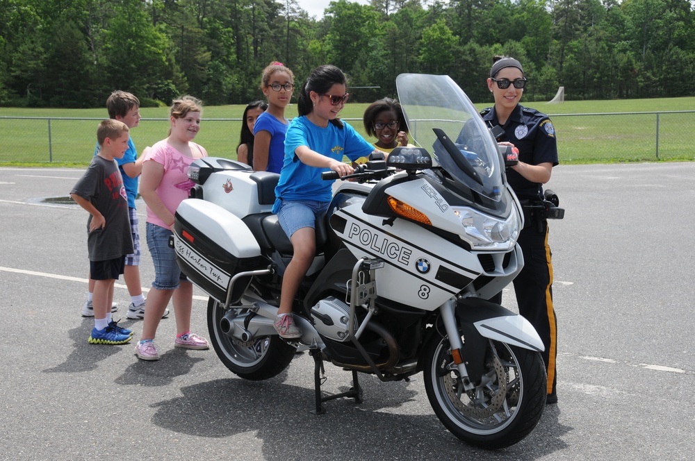
[[(345, 392), (345, 386), (324, 395)], [(223, 438), (245, 432), (263, 441), (263, 459), (523, 459), (545, 457), (566, 448), (561, 437), (571, 428), (559, 426), (557, 405), (548, 407), (537, 428), (518, 444), (485, 451), (459, 441), (434, 414), (408, 414), (399, 409), (418, 394), (407, 383), (379, 383), (360, 376), (365, 387), (361, 404), (352, 399), (324, 403), (325, 414), (311, 414), (313, 389), (285, 385), (277, 379), (253, 382), (238, 378), (181, 387), (183, 396), (156, 403), (153, 423), (177, 433)], [(379, 391), (380, 389), (380, 391)], [(423, 396), (420, 396), (420, 399)], [(182, 415), (186, 415), (182, 417)], [(364, 444), (379, 435), (382, 444)], [(291, 448), (289, 448), (291, 446)], [(437, 447), (436, 453), (432, 446)], [(530, 457), (532, 452), (536, 453)], [(539, 447), (540, 452), (539, 452)], [(230, 453), (231, 455), (231, 453)]]

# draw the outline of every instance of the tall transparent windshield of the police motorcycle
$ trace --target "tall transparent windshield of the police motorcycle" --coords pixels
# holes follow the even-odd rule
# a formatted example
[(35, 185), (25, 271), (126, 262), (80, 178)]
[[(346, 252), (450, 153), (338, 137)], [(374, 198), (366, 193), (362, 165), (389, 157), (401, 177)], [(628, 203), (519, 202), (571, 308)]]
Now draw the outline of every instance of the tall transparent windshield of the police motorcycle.
[(400, 74), (409, 134), (456, 181), (493, 201), (504, 186), (498, 146), (471, 100), (445, 75)]

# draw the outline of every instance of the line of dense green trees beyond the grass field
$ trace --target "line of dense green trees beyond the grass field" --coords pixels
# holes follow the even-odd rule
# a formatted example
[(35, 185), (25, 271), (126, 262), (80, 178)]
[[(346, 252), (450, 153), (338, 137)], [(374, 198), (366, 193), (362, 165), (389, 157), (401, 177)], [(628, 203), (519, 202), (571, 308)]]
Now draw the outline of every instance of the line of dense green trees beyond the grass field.
[(397, 96), (403, 72), (486, 101), (496, 54), (523, 62), (526, 100), (560, 85), (566, 99), (689, 96), (694, 18), (689, 0), (338, 0), (321, 19), (296, 0), (0, 0), (0, 105), (102, 107), (115, 89), (143, 106), (247, 103), (275, 60), (298, 84), (337, 65), (363, 102)]

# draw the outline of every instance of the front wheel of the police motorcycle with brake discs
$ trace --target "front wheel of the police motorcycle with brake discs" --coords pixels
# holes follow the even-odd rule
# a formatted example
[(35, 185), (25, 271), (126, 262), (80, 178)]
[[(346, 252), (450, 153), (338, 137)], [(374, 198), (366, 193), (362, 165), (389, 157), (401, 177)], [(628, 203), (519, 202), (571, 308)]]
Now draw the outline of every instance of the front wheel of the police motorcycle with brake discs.
[(430, 405), (442, 424), (464, 442), (502, 449), (526, 437), (541, 419), (546, 369), (540, 353), (489, 340), (482, 379), (468, 390), (447, 337), (435, 335), (425, 353)]

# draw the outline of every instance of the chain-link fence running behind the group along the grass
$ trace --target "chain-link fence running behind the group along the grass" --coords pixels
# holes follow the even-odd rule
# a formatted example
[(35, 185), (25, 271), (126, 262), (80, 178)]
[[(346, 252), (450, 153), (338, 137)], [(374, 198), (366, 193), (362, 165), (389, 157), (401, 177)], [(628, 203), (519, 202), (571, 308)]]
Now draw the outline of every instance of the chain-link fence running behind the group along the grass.
[[(550, 115), (560, 162), (695, 160), (695, 110)], [(361, 119), (347, 119), (362, 135)], [(0, 117), (3, 162), (77, 163), (94, 152), (101, 119)], [(195, 141), (215, 157), (236, 158), (241, 119), (204, 119)], [(138, 151), (166, 137), (169, 119), (141, 119)]]

